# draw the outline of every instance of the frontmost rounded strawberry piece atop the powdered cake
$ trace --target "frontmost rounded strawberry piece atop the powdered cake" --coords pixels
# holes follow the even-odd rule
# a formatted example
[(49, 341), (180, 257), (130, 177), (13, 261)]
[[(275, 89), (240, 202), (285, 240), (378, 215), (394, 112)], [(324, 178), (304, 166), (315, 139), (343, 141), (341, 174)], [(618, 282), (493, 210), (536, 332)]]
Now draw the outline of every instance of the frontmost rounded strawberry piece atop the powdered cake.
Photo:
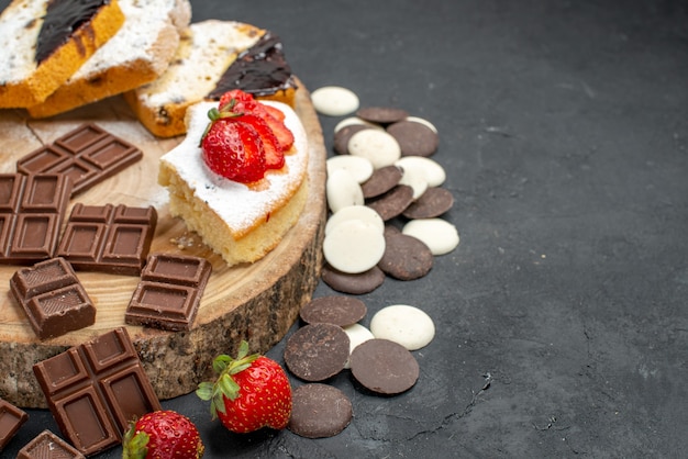
[(256, 130), (236, 117), (212, 122), (201, 141), (202, 157), (210, 170), (243, 183), (265, 175), (265, 150)]

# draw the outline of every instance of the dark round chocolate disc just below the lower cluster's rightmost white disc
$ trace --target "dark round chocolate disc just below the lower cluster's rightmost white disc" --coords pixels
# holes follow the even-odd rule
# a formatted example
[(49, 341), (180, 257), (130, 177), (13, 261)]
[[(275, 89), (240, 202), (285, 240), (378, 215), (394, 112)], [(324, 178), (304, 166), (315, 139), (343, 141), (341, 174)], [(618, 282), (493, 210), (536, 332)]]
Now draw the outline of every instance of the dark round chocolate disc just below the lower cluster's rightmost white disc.
[(420, 374), (418, 361), (400, 344), (368, 339), (356, 346), (349, 357), (352, 373), (364, 388), (395, 395), (411, 389)]

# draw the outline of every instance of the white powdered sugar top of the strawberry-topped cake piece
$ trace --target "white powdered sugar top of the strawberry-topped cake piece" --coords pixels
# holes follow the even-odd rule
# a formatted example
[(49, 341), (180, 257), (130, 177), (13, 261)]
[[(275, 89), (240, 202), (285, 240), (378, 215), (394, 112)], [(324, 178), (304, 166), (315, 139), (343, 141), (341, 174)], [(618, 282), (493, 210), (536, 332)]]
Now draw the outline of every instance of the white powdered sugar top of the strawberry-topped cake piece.
[(217, 102), (201, 102), (187, 111), (187, 136), (173, 150), (160, 158), (176, 169), (179, 177), (193, 191), (195, 198), (207, 205), (241, 237), (252, 227), (265, 222), (271, 210), (284, 205), (301, 186), (308, 168), (308, 139), (301, 121), (284, 103), (264, 101), (285, 113), (285, 125), (293, 134), (293, 147), (285, 155), (286, 165), (279, 170), (268, 170), (256, 186), (235, 182), (212, 172), (201, 157), (199, 146), (209, 123), (208, 111)]

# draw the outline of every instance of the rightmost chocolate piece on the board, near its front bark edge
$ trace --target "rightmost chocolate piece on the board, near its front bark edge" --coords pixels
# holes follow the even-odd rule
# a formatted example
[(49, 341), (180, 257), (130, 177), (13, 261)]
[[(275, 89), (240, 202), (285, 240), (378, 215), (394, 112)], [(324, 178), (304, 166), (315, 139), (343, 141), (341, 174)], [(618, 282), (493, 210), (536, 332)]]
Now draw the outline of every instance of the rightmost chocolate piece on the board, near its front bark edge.
[(126, 307), (126, 323), (176, 332), (190, 329), (211, 270), (204, 258), (149, 255)]

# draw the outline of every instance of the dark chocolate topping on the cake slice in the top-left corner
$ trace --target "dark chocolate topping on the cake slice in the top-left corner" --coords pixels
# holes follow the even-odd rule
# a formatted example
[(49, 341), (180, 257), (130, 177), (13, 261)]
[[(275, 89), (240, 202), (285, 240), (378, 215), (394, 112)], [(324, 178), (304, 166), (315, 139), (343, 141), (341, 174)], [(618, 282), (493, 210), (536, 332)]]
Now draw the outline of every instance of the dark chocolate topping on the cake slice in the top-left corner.
[(47, 59), (108, 3), (110, 0), (51, 0), (38, 33), (36, 63)]

